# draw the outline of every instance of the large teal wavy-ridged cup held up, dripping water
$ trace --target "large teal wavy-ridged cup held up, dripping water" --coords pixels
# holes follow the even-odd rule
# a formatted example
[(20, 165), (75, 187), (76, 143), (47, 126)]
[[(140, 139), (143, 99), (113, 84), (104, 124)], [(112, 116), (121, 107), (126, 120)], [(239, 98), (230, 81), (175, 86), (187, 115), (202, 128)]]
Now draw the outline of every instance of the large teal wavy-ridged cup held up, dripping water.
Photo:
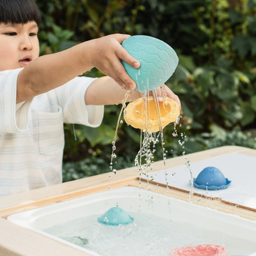
[(122, 61), (139, 92), (152, 91), (164, 84), (179, 63), (179, 58), (170, 45), (151, 36), (130, 36), (122, 46), (140, 61), (140, 68)]

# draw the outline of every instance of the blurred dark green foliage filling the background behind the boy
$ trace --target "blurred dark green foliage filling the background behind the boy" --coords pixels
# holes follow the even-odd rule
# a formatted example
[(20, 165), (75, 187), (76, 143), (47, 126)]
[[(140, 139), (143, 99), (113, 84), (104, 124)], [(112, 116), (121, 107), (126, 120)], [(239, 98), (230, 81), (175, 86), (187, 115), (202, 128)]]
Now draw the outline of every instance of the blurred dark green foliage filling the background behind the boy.
[[(154, 36), (179, 66), (166, 83), (182, 102), (179, 136), (164, 129), (168, 157), (223, 145), (256, 148), (256, 0), (36, 0), (40, 54), (112, 33)], [(85, 76), (100, 77), (93, 68)], [(106, 106), (96, 129), (65, 125), (63, 181), (109, 172), (120, 106)], [(117, 170), (134, 166), (140, 131), (120, 124)], [(181, 132), (186, 133), (184, 148)], [(161, 149), (155, 159), (161, 159)]]

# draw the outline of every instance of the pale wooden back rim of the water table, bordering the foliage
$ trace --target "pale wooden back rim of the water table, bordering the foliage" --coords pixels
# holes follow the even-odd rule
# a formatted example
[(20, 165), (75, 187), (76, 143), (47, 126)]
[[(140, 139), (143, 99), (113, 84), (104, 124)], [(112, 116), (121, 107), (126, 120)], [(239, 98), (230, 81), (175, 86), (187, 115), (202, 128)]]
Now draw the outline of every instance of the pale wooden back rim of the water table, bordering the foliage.
[[(250, 150), (248, 148), (237, 146), (225, 146), (220, 148), (213, 148), (202, 152), (196, 152), (189, 156), (191, 163), (196, 163), (204, 159), (211, 159), (226, 154), (241, 153), (256, 156), (256, 150)], [(166, 160), (166, 168), (173, 168), (184, 164), (184, 156), (173, 157)], [(157, 161), (154, 163), (154, 170), (149, 173), (156, 172), (157, 170), (163, 170), (164, 161)], [(112, 177), (109, 178), (109, 175)], [(117, 186), (118, 183), (126, 184), (127, 181), (137, 179), (138, 170), (136, 167), (126, 168), (124, 170), (118, 170), (116, 175), (112, 173), (104, 173), (101, 175), (95, 175), (93, 177), (87, 177), (84, 179), (73, 180), (54, 186), (49, 186), (40, 189), (34, 189), (28, 192), (19, 193), (16, 195), (0, 197), (0, 217), (6, 218), (10, 214), (14, 214), (20, 209), (32, 209), (32, 205), (36, 207), (44, 206), (45, 204), (54, 204), (55, 202), (62, 202), (74, 198), (74, 196), (87, 195), (87, 191), (100, 191), (104, 187)], [(122, 185), (120, 185), (122, 186)], [(174, 188), (173, 188), (174, 189)], [(23, 211), (26, 211), (23, 210)]]

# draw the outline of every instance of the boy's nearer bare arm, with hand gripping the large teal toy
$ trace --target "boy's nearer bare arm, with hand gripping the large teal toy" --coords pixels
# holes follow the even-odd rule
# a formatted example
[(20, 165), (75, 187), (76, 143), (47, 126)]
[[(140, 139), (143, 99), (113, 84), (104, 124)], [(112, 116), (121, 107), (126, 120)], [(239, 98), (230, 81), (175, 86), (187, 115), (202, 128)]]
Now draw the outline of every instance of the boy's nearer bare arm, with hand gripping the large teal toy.
[(66, 51), (31, 61), (17, 79), (17, 103), (49, 92), (93, 67), (112, 77), (122, 88), (136, 87), (120, 60), (135, 68), (140, 63), (122, 47), (129, 35), (109, 35), (76, 45)]

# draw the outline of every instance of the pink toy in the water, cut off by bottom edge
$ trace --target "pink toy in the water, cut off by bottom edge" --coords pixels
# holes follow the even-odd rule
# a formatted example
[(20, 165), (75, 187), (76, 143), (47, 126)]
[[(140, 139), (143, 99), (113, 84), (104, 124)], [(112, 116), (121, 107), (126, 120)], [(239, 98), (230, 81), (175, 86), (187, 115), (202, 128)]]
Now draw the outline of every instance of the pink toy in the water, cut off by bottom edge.
[(228, 252), (223, 246), (214, 244), (202, 244), (196, 246), (184, 246), (172, 250), (170, 256), (227, 256)]

